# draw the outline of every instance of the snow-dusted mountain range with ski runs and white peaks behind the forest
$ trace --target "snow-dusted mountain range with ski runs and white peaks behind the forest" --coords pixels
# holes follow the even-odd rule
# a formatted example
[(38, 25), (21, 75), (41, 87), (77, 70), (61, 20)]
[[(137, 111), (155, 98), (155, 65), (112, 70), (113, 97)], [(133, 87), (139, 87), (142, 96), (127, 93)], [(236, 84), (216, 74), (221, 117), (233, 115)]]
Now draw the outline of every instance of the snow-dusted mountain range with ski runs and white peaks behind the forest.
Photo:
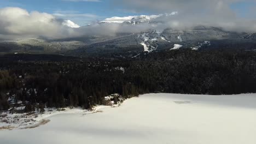
[[(59, 53), (62, 55), (88, 56), (122, 54), (135, 57), (141, 52), (159, 50), (192, 49), (200, 50), (214, 47), (243, 47), (254, 50), (256, 46), (255, 33), (237, 33), (225, 31), (221, 27), (194, 26), (190, 29), (160, 29), (162, 19), (176, 15), (140, 15), (127, 17), (111, 17), (96, 23), (96, 25), (153, 25), (146, 31), (117, 32), (115, 35), (82, 35), (66, 39), (31, 38), (13, 41), (2, 41), (0, 53)], [(80, 27), (70, 20), (62, 22), (63, 26), (91, 28), (94, 25)]]

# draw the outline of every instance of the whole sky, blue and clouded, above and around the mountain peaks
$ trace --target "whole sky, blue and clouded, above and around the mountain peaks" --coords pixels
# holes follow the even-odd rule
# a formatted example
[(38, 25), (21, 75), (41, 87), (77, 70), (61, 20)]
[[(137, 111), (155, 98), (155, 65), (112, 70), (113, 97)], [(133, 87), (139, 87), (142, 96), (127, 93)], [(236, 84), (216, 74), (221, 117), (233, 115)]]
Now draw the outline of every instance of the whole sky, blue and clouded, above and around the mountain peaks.
[[(80, 26), (113, 16), (172, 13), (159, 27), (188, 28), (195, 25), (219, 26), (231, 31), (256, 32), (255, 0), (0, 0), (0, 39), (14, 37), (75, 37), (81, 34), (110, 34), (138, 31), (148, 25), (95, 29), (63, 27), (63, 20)], [(98, 30), (101, 30), (98, 31)], [(98, 33), (97, 33), (98, 32)], [(3, 38), (2, 38), (3, 39)]]

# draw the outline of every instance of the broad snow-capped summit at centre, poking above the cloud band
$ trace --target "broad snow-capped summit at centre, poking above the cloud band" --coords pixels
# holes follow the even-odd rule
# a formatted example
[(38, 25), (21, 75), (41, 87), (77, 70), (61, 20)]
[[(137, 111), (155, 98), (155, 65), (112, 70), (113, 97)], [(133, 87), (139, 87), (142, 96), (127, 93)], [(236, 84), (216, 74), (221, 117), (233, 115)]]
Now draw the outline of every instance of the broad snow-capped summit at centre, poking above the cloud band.
[(125, 16), (125, 17), (110, 17), (107, 18), (100, 23), (131, 23), (131, 24), (138, 24), (143, 22), (153, 22), (155, 19), (164, 16), (172, 16), (176, 15), (177, 12), (173, 12), (170, 14), (159, 14), (159, 15), (138, 15), (138, 16)]

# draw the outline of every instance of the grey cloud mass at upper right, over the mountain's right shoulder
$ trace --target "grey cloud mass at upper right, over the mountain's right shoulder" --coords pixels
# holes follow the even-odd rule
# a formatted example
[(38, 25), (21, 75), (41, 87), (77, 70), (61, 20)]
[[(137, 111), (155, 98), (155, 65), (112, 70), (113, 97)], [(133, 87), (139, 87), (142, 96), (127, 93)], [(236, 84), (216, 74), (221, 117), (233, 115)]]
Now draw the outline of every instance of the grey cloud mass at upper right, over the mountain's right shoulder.
[(112, 2), (118, 8), (137, 12), (178, 11), (177, 16), (161, 17), (167, 27), (184, 29), (205, 25), (223, 27), (228, 31), (256, 32), (256, 23), (252, 17), (240, 17), (231, 9), (232, 4), (255, 2), (253, 0), (112, 0)]

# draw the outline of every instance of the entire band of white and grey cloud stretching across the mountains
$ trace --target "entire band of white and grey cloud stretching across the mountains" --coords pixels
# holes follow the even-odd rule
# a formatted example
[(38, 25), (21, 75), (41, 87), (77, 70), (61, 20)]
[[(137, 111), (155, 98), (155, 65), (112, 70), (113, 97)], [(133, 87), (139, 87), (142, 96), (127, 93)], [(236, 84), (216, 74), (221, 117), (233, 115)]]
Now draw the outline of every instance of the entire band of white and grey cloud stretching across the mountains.
[[(157, 23), (141, 23), (139, 25), (125, 25), (124, 23), (92, 23), (91, 26), (78, 25), (79, 28), (63, 26), (63, 21), (79, 19), (78, 21), (93, 21), (100, 18), (94, 14), (82, 14), (79, 11), (55, 11), (54, 14), (28, 12), (21, 8), (0, 9), (0, 39), (17, 39), (31, 37), (45, 37), (61, 39), (80, 37), (83, 35), (116, 35), (117, 33), (138, 33), (149, 29), (164, 30), (173, 28), (178, 30), (190, 29), (198, 25), (222, 27), (227, 31), (256, 32), (256, 20), (252, 17), (238, 17), (230, 8), (231, 4), (246, 0), (112, 0), (121, 8), (135, 11), (153, 11), (155, 13), (178, 14), (159, 16), (154, 19)], [(112, 17), (113, 18), (113, 17)], [(130, 20), (131, 17), (115, 17), (117, 22)], [(109, 19), (106, 19), (109, 20)]]

